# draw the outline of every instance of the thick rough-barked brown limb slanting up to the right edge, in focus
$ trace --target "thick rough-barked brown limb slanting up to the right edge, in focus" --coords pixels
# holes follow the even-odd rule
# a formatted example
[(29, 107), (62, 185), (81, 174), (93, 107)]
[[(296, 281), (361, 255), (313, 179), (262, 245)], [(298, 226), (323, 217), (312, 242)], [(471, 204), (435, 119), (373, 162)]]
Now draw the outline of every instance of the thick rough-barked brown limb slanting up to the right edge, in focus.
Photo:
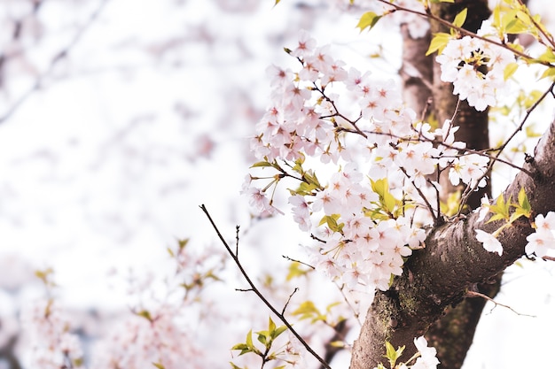
[[(504, 191), (504, 198), (517, 198), (524, 188), (534, 214), (555, 210), (555, 121), (535, 147), (535, 157), (525, 167), (532, 176), (518, 173)], [(426, 249), (415, 250), (405, 273), (386, 292), (378, 291), (355, 342), (351, 369), (374, 367), (383, 360), (384, 342), (405, 345), (406, 357), (414, 353), (412, 340), (426, 332), (445, 308), (458, 304), (476, 283), (489, 281), (524, 255), (526, 237), (533, 232), (529, 222), (515, 222), (499, 234), (502, 256), (484, 250), (474, 236), (476, 229), (493, 232), (499, 222), (486, 224), (473, 212), (465, 219), (434, 228), (426, 238)], [(397, 322), (396, 327), (388, 323)]]

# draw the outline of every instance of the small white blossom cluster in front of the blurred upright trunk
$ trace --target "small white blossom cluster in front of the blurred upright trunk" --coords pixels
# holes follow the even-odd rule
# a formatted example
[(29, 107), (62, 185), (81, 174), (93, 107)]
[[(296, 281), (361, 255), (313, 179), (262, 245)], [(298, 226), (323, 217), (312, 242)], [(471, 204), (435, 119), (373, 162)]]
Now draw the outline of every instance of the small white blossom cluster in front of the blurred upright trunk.
[[(487, 20), (477, 35), (499, 41)], [(507, 89), (505, 68), (515, 62), (510, 50), (469, 35), (450, 40), (435, 60), (441, 65), (442, 81), (452, 82), (453, 94), (477, 111), (496, 104), (498, 94)]]

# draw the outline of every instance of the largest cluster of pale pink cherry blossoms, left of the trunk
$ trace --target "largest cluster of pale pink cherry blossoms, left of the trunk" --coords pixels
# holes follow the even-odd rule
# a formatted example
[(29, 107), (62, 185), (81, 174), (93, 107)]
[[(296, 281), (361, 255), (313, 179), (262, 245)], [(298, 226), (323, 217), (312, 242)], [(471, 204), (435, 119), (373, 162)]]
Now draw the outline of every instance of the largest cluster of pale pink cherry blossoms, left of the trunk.
[[(301, 230), (319, 241), (309, 248), (317, 269), (349, 288), (385, 290), (404, 258), (423, 247), (422, 226), (438, 216), (437, 171), (477, 188), (489, 159), (465, 152), (451, 121), (435, 129), (419, 121), (394, 81), (348, 68), (307, 33), (289, 52), (301, 66), (268, 70), (271, 104), (251, 146), (260, 161), (243, 193), (268, 215), (278, 211), (278, 182), (297, 181), (289, 203)], [(309, 164), (332, 173), (320, 181)], [(270, 183), (256, 187), (261, 179)]]

